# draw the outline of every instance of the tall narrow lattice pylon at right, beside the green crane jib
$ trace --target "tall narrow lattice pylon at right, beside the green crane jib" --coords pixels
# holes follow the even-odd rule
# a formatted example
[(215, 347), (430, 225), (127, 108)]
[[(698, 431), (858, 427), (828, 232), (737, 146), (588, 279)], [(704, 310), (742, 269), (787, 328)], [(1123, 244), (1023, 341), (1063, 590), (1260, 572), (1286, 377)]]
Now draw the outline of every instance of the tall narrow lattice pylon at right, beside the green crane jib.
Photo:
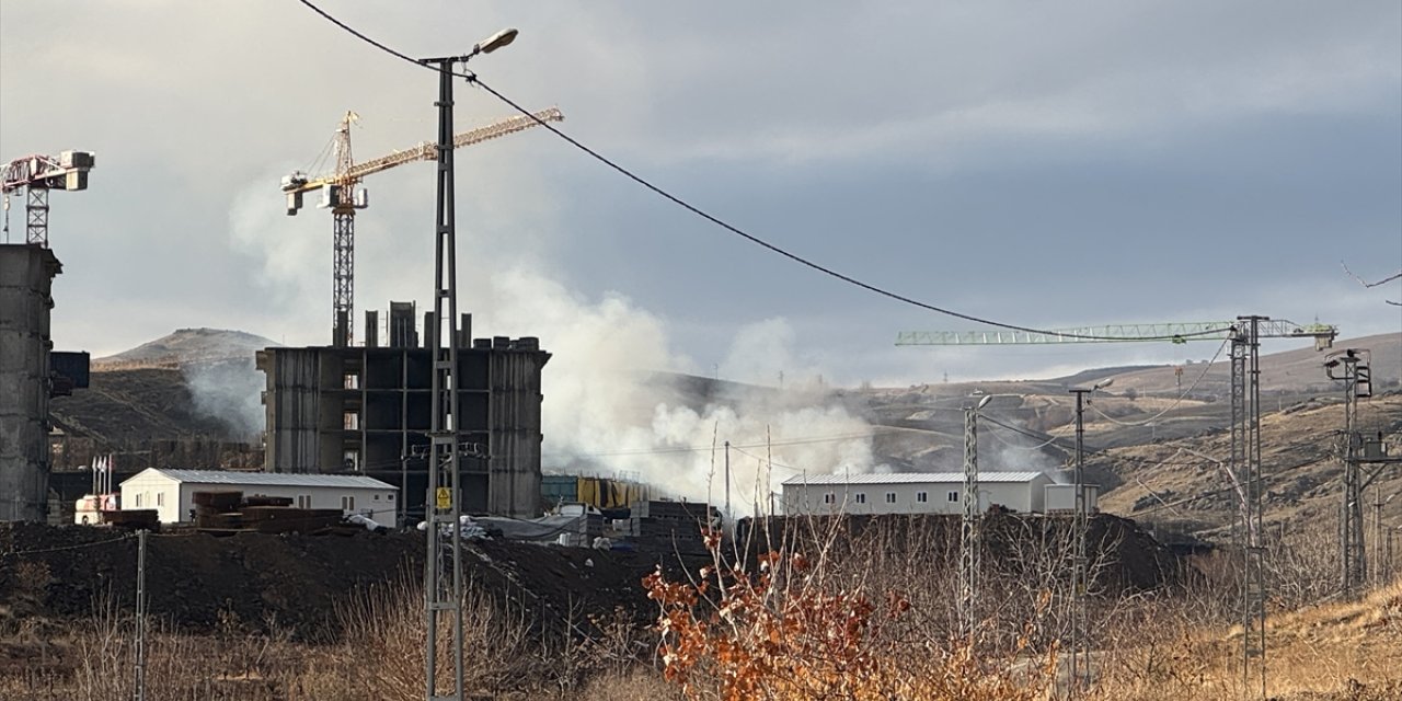
[(1241, 625), (1242, 693), (1251, 694), (1252, 667), (1266, 697), (1266, 547), (1262, 540), (1260, 474), (1260, 322), (1267, 317), (1237, 317), (1231, 339), (1231, 458), (1241, 486), (1237, 543), (1242, 552)]

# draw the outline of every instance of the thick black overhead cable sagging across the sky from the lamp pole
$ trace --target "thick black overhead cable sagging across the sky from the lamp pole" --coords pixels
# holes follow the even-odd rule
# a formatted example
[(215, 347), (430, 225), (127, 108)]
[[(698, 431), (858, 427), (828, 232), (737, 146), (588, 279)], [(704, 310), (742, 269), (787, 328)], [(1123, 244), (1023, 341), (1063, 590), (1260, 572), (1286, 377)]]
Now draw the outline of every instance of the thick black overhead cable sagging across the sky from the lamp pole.
[[(419, 67), (423, 67), (423, 69), (428, 69), (428, 70), (433, 70), (435, 73), (439, 72), (437, 67), (425, 64), (425, 63), (422, 63), (422, 62), (419, 62), (419, 60), (408, 56), (407, 53), (395, 50), (395, 49), (384, 45), (384, 43), (380, 43), (380, 42), (377, 42), (377, 41), (366, 36), (360, 31), (352, 28), (350, 25), (342, 22), (341, 20), (336, 20), (335, 17), (332, 17), (331, 14), (328, 14), (325, 10), (321, 10), (320, 7), (317, 7), (314, 3), (311, 3), (311, 0), (299, 0), (299, 1), (301, 4), (304, 4), (304, 6), (307, 6), (310, 10), (313, 10), (318, 15), (321, 15), (322, 18), (325, 18), (327, 21), (329, 21), (331, 24), (335, 24), (341, 29), (343, 29), (343, 31), (349, 32), (350, 35), (353, 35), (355, 38), (358, 38), (358, 39), (369, 43), (370, 46), (374, 46), (376, 49), (380, 49), (380, 50), (383, 50), (383, 52), (388, 53), (390, 56), (394, 56), (394, 57), (397, 57), (400, 60), (412, 63), (415, 66), (419, 66)], [(559, 139), (562, 139), (565, 143), (573, 146), (575, 149), (578, 149), (582, 153), (590, 156), (596, 161), (599, 161), (599, 163), (607, 165), (608, 168), (617, 171), (620, 175), (622, 175), (622, 177), (631, 179), (631, 181), (637, 182), (638, 185), (642, 185), (644, 188), (646, 188), (652, 193), (660, 196), (662, 199), (666, 199), (667, 202), (672, 202), (673, 205), (676, 205), (676, 206), (679, 206), (681, 209), (686, 209), (687, 212), (690, 212), (690, 213), (693, 213), (693, 215), (695, 215), (695, 216), (698, 216), (698, 217), (709, 222), (711, 224), (715, 224), (715, 226), (718, 226), (718, 227), (721, 227), (721, 229), (723, 229), (723, 230), (726, 230), (726, 231), (729, 231), (729, 233), (732, 233), (735, 236), (739, 236), (740, 238), (744, 238), (746, 241), (750, 241), (754, 245), (765, 248), (770, 252), (774, 252), (777, 255), (788, 258), (789, 261), (794, 261), (794, 262), (796, 262), (796, 264), (799, 264), (799, 265), (802, 265), (805, 268), (810, 268), (810, 269), (817, 271), (817, 272), (820, 272), (823, 275), (827, 275), (827, 276), (834, 278), (837, 280), (845, 282), (845, 283), (848, 283), (851, 286), (861, 287), (861, 289), (864, 289), (866, 292), (871, 292), (873, 294), (879, 294), (882, 297), (887, 297), (890, 300), (896, 300), (896, 301), (900, 301), (900, 303), (904, 303), (904, 304), (908, 304), (908, 306), (913, 306), (913, 307), (918, 307), (918, 308), (923, 308), (923, 310), (927, 310), (927, 311), (934, 311), (934, 313), (938, 313), (938, 314), (945, 314), (948, 317), (962, 318), (965, 321), (973, 321), (976, 324), (984, 324), (984, 325), (995, 327), (995, 328), (1007, 328), (1007, 329), (1011, 329), (1011, 331), (1023, 331), (1023, 332), (1029, 332), (1029, 334), (1050, 334), (1049, 331), (1039, 329), (1039, 328), (1021, 327), (1021, 325), (1016, 325), (1016, 324), (1008, 324), (1008, 322), (1002, 322), (1002, 321), (994, 321), (994, 320), (990, 320), (990, 318), (976, 317), (973, 314), (965, 314), (962, 311), (955, 311), (955, 310), (951, 310), (951, 308), (939, 307), (937, 304), (931, 304), (928, 301), (921, 301), (921, 300), (917, 300), (914, 297), (910, 297), (910, 296), (906, 296), (906, 294), (900, 294), (897, 292), (892, 292), (892, 290), (887, 290), (885, 287), (876, 286), (873, 283), (859, 280), (857, 278), (852, 278), (851, 275), (838, 272), (838, 271), (836, 271), (833, 268), (829, 268), (826, 265), (822, 265), (822, 264), (817, 264), (817, 262), (810, 261), (808, 258), (803, 258), (802, 255), (791, 252), (791, 251), (788, 251), (788, 250), (785, 250), (785, 248), (782, 248), (780, 245), (771, 244), (771, 243), (765, 241), (764, 238), (760, 238), (758, 236), (750, 234), (749, 231), (744, 231), (743, 229), (740, 229), (740, 227), (737, 227), (735, 224), (730, 224), (730, 223), (725, 222), (723, 219), (721, 219), (721, 217), (718, 217), (715, 215), (711, 215), (709, 212), (707, 212), (707, 210), (704, 210), (704, 209), (701, 209), (701, 207), (698, 207), (698, 206), (695, 206), (695, 205), (693, 205), (693, 203), (681, 199), (680, 196), (673, 195), (672, 192), (669, 192), (669, 191), (666, 191), (666, 189), (663, 189), (663, 188), (660, 188), (658, 185), (653, 185), (646, 178), (644, 178), (641, 175), (637, 175), (635, 172), (632, 172), (628, 168), (620, 165), (618, 163), (615, 163), (611, 158), (606, 157), (604, 154), (596, 151), (594, 149), (590, 149), (589, 146), (583, 144), (582, 142), (576, 140), (575, 137), (572, 137), (572, 136), (566, 135), (565, 132), (557, 129), (555, 126), (551, 126), (550, 123), (545, 123), (543, 119), (534, 118), (530, 111), (527, 111), (526, 108), (523, 108), (522, 105), (519, 105), (516, 101), (513, 101), (512, 98), (506, 97), (505, 94), (502, 94), (501, 91), (495, 90), (494, 87), (488, 86), (486, 83), (482, 83), (482, 80), (477, 76), (477, 73), (472, 73), (472, 72), (465, 72), (465, 73), (450, 72), (450, 73), (453, 76), (463, 77), (468, 83), (471, 83), (471, 84), (474, 84), (474, 86), (485, 90), (488, 94), (491, 94), (492, 97), (495, 97), (501, 102), (509, 105), (512, 109), (520, 112), (522, 115), (531, 116), (533, 119), (536, 119), (540, 123), (540, 126), (545, 128), (547, 130), (550, 130), (551, 133), (554, 133), (555, 136), (558, 136)], [(1202, 331), (1199, 334), (1192, 334), (1192, 335), (1213, 335), (1213, 334), (1221, 334), (1221, 332), (1225, 332), (1225, 331), (1230, 331), (1230, 328), (1207, 329), (1207, 331)], [(1084, 339), (1084, 341), (1129, 341), (1129, 339), (1120, 338), (1120, 336), (1105, 336), (1105, 335), (1092, 335), (1092, 334), (1078, 335), (1078, 334), (1060, 332), (1060, 335), (1067, 336), (1067, 338), (1080, 338), (1080, 339)], [(1162, 338), (1143, 338), (1143, 336), (1140, 336), (1140, 338), (1134, 338), (1134, 341), (1172, 341), (1173, 338), (1182, 338), (1182, 335), (1178, 335), (1178, 336), (1162, 336)]]

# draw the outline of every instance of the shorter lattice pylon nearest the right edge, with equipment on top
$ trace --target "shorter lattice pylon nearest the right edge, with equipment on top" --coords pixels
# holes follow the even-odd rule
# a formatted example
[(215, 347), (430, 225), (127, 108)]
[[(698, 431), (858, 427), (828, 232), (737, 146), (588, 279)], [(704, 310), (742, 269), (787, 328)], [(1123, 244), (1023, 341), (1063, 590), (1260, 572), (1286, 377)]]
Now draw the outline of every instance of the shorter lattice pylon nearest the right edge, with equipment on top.
[(1363, 433), (1359, 400), (1371, 397), (1368, 352), (1349, 348), (1323, 363), (1330, 380), (1343, 381), (1343, 503), (1340, 505), (1339, 555), (1343, 596), (1353, 596), (1367, 580), (1368, 561), (1363, 543)]

